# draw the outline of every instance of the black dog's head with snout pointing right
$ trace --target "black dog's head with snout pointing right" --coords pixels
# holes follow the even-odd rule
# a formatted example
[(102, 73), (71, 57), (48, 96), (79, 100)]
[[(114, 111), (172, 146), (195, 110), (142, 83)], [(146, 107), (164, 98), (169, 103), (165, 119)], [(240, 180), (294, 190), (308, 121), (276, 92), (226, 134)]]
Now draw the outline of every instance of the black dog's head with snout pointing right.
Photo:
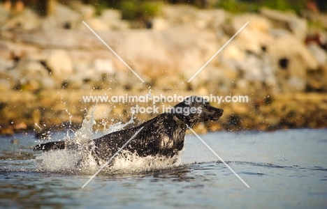
[(170, 109), (170, 114), (174, 114), (192, 127), (196, 123), (204, 121), (217, 121), (222, 116), (223, 111), (210, 106), (209, 102), (204, 98), (191, 96)]

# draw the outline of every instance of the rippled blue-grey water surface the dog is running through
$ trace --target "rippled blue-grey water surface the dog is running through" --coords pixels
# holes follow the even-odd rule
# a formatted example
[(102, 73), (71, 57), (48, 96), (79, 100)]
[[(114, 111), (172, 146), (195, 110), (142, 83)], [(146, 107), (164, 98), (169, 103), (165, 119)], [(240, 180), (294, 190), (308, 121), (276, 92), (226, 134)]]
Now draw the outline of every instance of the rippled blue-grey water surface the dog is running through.
[(34, 134), (16, 134), (0, 137), (0, 208), (327, 208), (327, 129), (200, 137), (249, 188), (193, 134), (178, 166), (139, 161), (144, 172), (101, 172), (83, 189), (92, 173), (70, 172), (69, 153), (34, 153)]

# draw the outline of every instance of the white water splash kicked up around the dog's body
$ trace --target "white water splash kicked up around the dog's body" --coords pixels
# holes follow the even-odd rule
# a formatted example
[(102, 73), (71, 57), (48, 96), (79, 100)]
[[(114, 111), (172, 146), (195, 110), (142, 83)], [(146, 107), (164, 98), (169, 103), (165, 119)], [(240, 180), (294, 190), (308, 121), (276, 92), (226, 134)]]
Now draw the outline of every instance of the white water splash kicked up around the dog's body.
[[(96, 124), (93, 116), (94, 111), (95, 109), (83, 120), (82, 126), (74, 132), (73, 137), (67, 132), (64, 141), (68, 148), (41, 153), (36, 157), (38, 171), (90, 175), (99, 169), (100, 165), (92, 155), (92, 150), (95, 148), (92, 139), (96, 138), (97, 133), (97, 130), (93, 130)], [(133, 119), (135, 118), (131, 116), (131, 120), (126, 123), (119, 122), (108, 127), (106, 122), (102, 121), (103, 134), (122, 130), (126, 125), (132, 124)], [(159, 169), (168, 169), (181, 164), (181, 154), (182, 152), (179, 156), (167, 159), (166, 157), (153, 156), (139, 157), (136, 153), (122, 150), (122, 153), (117, 155), (112, 164), (105, 167), (101, 174), (147, 173)]]

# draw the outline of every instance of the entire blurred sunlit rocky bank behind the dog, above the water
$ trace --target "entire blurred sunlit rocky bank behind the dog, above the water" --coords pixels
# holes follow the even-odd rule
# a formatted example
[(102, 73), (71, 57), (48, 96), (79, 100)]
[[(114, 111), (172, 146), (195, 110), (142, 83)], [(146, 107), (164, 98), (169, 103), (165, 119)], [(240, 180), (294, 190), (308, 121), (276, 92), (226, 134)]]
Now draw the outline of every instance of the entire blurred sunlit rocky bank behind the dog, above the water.
[[(149, 91), (249, 97), (213, 103), (224, 116), (198, 132), (327, 127), (326, 10), (323, 0), (0, 1), (0, 134), (78, 128), (95, 106), (83, 95)], [(131, 106), (99, 102), (94, 118), (126, 122)]]

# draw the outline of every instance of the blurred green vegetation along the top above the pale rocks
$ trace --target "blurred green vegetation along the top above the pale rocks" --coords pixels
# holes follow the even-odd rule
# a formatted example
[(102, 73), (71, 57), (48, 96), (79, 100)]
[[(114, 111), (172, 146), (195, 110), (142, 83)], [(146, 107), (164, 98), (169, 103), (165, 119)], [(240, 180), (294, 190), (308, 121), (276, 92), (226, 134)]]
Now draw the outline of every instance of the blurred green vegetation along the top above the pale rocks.
[[(4, 2), (5, 0), (0, 0)], [(13, 2), (15, 0), (12, 0)], [(46, 7), (50, 0), (23, 0), (27, 6), (36, 6), (41, 15), (46, 15)], [(59, 0), (57, 0), (59, 1)], [(59, 2), (69, 4), (73, 0), (61, 0)], [(80, 0), (83, 3), (91, 4), (96, 8), (96, 13), (101, 14), (105, 8), (122, 10), (123, 19), (136, 20), (147, 19), (159, 13), (163, 3), (184, 3), (198, 6), (199, 8), (222, 8), (231, 13), (255, 13), (261, 7), (276, 10), (293, 10), (300, 13), (305, 10), (309, 1), (314, 1), (321, 12), (327, 11), (326, 0)], [(214, 2), (212, 4), (212, 2)]]

